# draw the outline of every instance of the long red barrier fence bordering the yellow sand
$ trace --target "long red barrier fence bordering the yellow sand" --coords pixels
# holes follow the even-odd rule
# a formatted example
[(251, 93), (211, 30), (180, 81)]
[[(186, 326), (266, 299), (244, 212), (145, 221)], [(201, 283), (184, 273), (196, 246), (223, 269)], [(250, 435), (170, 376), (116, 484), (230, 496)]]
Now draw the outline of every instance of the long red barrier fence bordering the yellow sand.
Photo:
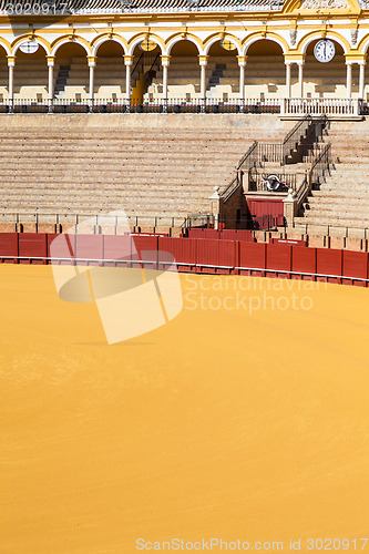
[[(58, 248), (52, 246), (55, 237), (61, 237)], [(365, 287), (369, 283), (368, 256), (362, 252), (226, 239), (0, 234), (2, 263), (71, 264), (78, 260), (89, 265), (150, 264), (150, 267), (163, 268), (174, 258), (180, 271), (327, 280)]]

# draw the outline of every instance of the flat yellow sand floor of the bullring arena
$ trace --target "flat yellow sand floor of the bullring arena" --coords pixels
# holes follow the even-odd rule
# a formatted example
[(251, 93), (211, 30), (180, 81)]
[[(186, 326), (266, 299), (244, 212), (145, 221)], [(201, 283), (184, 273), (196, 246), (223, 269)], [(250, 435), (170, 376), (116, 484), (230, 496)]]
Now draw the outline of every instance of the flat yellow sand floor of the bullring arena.
[(369, 290), (238, 279), (249, 315), (235, 278), (182, 280), (177, 318), (107, 346), (49, 267), (0, 267), (1, 554), (368, 536)]

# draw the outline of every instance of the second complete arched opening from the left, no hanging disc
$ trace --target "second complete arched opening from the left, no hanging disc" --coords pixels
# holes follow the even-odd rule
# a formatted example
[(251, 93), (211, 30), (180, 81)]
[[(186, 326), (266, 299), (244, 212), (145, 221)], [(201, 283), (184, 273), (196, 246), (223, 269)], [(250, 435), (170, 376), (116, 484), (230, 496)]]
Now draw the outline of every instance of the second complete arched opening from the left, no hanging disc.
[(89, 98), (89, 65), (84, 48), (75, 42), (62, 44), (55, 54), (54, 98), (72, 102)]

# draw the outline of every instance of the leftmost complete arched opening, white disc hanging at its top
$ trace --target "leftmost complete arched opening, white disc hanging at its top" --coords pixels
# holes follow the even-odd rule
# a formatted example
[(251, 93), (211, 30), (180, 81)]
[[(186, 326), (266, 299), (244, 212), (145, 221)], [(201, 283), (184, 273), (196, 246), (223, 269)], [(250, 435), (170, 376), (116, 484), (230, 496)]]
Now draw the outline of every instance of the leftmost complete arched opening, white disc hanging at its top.
[[(28, 41), (24, 40), (24, 45)], [(33, 53), (16, 52), (13, 99), (42, 102), (48, 98), (47, 51), (39, 44)]]

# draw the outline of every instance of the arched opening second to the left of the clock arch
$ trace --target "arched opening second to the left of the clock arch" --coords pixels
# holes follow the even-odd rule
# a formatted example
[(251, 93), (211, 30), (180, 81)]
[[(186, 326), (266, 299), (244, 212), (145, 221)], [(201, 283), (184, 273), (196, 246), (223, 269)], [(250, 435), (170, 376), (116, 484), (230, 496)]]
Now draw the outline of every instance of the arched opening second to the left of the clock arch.
[(208, 51), (206, 96), (228, 102), (239, 98), (238, 50), (229, 40), (215, 42)]

